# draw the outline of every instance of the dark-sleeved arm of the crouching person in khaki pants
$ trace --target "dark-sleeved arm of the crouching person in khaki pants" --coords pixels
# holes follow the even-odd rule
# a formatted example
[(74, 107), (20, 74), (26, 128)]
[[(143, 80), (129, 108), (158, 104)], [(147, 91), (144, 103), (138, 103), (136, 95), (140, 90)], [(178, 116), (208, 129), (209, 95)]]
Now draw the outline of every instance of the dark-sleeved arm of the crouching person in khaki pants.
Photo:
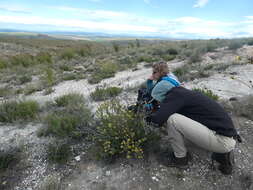
[(168, 118), (177, 113), (184, 106), (184, 100), (177, 93), (169, 93), (165, 101), (161, 104), (160, 109), (157, 110), (150, 116), (150, 121), (152, 123), (161, 126), (165, 123)]

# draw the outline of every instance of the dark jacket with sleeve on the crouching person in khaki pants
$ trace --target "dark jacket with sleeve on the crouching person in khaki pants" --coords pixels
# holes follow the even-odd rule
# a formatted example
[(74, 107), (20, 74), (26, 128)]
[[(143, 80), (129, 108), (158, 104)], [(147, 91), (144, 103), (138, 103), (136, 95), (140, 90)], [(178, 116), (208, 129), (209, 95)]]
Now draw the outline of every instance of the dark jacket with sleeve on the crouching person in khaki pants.
[(200, 92), (183, 87), (172, 88), (160, 105), (160, 109), (151, 115), (151, 121), (158, 125), (165, 123), (168, 118), (179, 113), (195, 120), (217, 134), (232, 137), (237, 132), (226, 111), (214, 100)]

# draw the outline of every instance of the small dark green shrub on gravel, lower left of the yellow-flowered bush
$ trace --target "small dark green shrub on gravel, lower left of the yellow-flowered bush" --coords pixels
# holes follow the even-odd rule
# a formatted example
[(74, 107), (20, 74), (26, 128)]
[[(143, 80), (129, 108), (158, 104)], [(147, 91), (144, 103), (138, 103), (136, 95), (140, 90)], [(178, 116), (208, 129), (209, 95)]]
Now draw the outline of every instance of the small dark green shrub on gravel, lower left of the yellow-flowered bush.
[(64, 164), (71, 157), (70, 145), (63, 142), (53, 142), (48, 145), (47, 158), (50, 162)]

